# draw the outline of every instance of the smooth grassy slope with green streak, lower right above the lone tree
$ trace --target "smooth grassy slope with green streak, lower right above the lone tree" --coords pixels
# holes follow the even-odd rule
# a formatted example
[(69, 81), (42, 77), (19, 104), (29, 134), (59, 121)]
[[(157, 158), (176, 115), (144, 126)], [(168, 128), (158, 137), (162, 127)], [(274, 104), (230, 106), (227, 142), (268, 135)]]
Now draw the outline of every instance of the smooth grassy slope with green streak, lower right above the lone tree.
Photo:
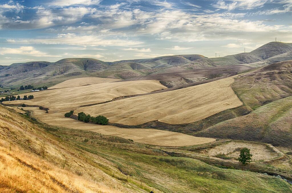
[(261, 106), (248, 115), (218, 123), (197, 133), (197, 136), (292, 146), (292, 97)]

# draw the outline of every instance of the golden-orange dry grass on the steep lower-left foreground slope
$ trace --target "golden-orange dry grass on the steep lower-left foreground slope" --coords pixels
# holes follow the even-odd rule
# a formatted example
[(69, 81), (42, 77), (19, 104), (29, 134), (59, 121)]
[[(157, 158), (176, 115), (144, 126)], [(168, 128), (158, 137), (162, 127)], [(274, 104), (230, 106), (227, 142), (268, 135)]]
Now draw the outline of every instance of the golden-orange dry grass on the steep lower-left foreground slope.
[(78, 151), (1, 106), (0, 129), (0, 192), (133, 192), (85, 163)]

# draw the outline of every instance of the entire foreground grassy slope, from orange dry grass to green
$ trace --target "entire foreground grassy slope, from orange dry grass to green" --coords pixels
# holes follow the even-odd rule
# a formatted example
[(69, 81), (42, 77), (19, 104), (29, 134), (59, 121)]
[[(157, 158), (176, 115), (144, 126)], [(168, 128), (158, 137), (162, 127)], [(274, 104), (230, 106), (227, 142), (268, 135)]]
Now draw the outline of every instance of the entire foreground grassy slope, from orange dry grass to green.
[[(1, 192), (292, 191), (279, 178), (169, 157), (114, 136), (52, 128), (3, 106), (0, 116)], [(82, 142), (84, 138), (89, 141)], [(127, 181), (123, 173), (128, 171)]]

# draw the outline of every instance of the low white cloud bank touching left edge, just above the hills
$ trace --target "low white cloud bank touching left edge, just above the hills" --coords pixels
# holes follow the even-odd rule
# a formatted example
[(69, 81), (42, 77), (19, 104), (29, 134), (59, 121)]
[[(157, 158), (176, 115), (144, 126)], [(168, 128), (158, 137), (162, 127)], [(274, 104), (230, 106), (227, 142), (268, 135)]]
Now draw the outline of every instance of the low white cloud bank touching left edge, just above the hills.
[(49, 55), (46, 52), (35, 50), (32, 46), (20, 46), (19, 48), (0, 48), (0, 55), (20, 54), (36, 57), (61, 57), (60, 55)]

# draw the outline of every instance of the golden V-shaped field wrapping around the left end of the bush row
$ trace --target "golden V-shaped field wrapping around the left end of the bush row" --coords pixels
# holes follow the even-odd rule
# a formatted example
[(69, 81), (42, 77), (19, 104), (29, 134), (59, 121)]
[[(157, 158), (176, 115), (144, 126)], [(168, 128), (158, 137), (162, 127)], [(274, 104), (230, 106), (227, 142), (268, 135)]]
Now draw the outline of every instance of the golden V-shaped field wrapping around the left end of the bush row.
[(82, 123), (65, 118), (64, 114), (81, 105), (99, 103), (124, 95), (142, 94), (166, 88), (156, 80), (140, 80), (117, 83), (101, 83), (82, 87), (54, 89), (33, 93), (34, 99), (28, 101), (9, 101), (8, 104), (39, 105), (49, 108), (49, 113), (38, 107), (25, 107), (44, 123), (75, 129), (86, 129), (107, 135), (130, 138), (140, 143), (165, 146), (184, 146), (208, 143), (213, 138), (198, 138), (185, 134), (156, 129), (122, 129), (114, 126), (101, 126)]

